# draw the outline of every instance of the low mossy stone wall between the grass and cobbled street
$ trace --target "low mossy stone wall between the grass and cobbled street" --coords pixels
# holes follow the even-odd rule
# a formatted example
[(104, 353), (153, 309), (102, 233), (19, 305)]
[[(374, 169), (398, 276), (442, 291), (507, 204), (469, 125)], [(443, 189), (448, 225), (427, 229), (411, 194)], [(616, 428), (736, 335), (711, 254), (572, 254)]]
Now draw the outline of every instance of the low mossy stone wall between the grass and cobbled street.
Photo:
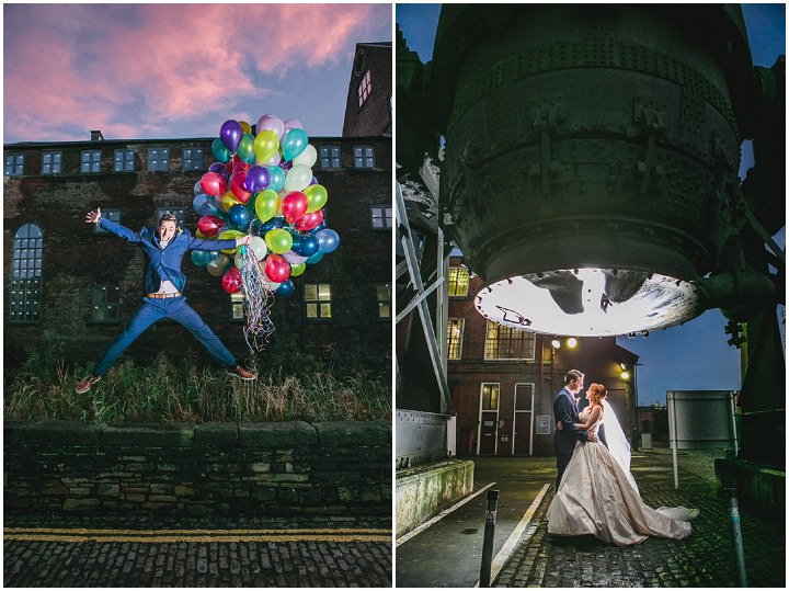
[(391, 514), (391, 425), (5, 421), (5, 511)]

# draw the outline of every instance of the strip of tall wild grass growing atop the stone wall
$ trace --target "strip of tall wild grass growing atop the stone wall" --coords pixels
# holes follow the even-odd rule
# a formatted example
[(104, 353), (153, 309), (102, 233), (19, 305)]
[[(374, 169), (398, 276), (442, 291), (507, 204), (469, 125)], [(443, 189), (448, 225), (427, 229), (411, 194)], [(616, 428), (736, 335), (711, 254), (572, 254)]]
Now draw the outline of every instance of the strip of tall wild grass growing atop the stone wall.
[[(31, 364), (33, 365), (33, 364)], [(214, 366), (175, 365), (163, 354), (137, 366), (124, 361), (90, 391), (77, 383), (88, 367), (56, 362), (25, 368), (5, 388), (5, 420), (68, 420), (98, 424), (139, 422), (390, 421), (391, 387), (364, 374), (335, 378), (281, 368), (242, 382)], [(46, 372), (46, 373), (45, 373)]]

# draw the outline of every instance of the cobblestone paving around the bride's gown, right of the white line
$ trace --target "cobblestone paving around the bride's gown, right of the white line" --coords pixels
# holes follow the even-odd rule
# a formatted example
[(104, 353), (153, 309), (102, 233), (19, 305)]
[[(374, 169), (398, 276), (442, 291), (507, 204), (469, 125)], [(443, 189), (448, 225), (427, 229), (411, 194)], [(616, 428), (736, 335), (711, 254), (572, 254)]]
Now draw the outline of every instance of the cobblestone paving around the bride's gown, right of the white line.
[[(671, 452), (633, 455), (634, 467), (661, 462), (671, 468)], [(679, 490), (673, 469), (666, 481), (639, 487), (651, 507), (698, 508), (690, 537), (616, 547), (592, 536), (551, 536), (546, 519), (551, 487), (493, 587), (737, 587), (729, 508), (714, 492), (711, 456), (685, 454), (678, 465), (686, 471)], [(770, 521), (740, 511), (748, 587), (786, 588), (786, 529), (778, 516)]]

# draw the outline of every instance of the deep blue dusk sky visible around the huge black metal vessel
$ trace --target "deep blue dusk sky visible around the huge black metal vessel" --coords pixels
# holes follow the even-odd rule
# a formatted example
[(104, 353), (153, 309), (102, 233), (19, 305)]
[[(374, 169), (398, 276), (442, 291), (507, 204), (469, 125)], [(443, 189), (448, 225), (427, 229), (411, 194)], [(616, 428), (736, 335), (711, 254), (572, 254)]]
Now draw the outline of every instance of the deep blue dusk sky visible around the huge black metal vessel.
[[(439, 11), (441, 4), (398, 4), (396, 9), (395, 20), (409, 48), (423, 62), (432, 58)], [(743, 4), (743, 14), (754, 65), (773, 66), (779, 55), (786, 55), (785, 4)], [(753, 157), (746, 145), (741, 175), (751, 166)], [(776, 240), (785, 248), (785, 231)], [(727, 343), (725, 325), (720, 310), (713, 309), (685, 325), (652, 331), (647, 338), (618, 338), (620, 346), (640, 356), (639, 405), (665, 405), (666, 390), (739, 390), (740, 350)]]

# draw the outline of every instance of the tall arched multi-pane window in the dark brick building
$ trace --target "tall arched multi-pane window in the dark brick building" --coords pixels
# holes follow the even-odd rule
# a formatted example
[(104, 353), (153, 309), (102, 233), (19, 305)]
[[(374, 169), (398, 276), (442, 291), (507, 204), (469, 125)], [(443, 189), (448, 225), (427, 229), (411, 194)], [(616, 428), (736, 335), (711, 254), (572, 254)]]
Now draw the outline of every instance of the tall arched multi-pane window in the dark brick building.
[(37, 322), (41, 312), (42, 230), (25, 224), (14, 235), (10, 322)]

